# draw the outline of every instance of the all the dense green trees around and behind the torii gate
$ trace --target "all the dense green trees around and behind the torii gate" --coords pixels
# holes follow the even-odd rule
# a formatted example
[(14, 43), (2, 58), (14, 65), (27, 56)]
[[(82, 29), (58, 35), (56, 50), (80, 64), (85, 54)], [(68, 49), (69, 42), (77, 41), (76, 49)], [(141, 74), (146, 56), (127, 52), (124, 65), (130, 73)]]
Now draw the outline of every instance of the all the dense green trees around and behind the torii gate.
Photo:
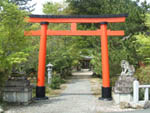
[[(21, 1), (21, 0), (20, 0)], [(0, 0), (0, 83), (13, 71), (35, 72), (39, 51), (39, 37), (25, 37), (24, 30), (40, 29), (39, 24), (24, 21), (30, 9), (24, 0)], [(23, 7), (23, 8), (21, 8)], [(125, 59), (136, 68), (150, 64), (150, 19), (149, 4), (139, 5), (132, 0), (67, 0), (66, 3), (44, 4), (45, 14), (101, 15), (128, 13), (126, 23), (109, 24), (112, 30), (125, 30), (124, 37), (109, 37), (110, 76), (120, 71), (120, 61)], [(22, 9), (22, 10), (20, 10)], [(23, 10), (25, 9), (25, 10)], [(32, 8), (30, 9), (32, 10)], [(78, 29), (99, 29), (99, 24), (78, 24)], [(55, 30), (69, 30), (69, 24), (49, 24)], [(48, 37), (47, 63), (54, 65), (54, 71), (61, 77), (70, 75), (80, 64), (81, 56), (92, 56), (94, 72), (101, 75), (100, 37)], [(143, 68), (148, 69), (148, 68)]]

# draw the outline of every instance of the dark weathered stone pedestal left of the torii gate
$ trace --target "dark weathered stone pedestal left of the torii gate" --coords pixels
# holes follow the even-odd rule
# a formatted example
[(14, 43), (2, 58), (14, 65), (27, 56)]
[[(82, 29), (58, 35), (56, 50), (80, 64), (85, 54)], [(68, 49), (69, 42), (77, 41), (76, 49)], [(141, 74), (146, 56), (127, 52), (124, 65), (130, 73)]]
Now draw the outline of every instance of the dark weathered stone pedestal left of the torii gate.
[(32, 86), (25, 77), (13, 77), (6, 82), (3, 100), (6, 102), (29, 104), (32, 99)]

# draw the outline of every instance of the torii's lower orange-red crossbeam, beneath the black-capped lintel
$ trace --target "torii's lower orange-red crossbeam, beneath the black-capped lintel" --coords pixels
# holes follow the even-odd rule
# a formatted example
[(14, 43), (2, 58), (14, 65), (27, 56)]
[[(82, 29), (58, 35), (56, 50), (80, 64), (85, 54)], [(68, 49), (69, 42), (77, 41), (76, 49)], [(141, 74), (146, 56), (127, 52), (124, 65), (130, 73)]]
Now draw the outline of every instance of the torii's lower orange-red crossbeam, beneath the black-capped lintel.
[[(41, 31), (29, 31), (24, 33), (26, 36), (40, 36)], [(72, 31), (53, 31), (53, 30), (47, 30), (48, 36), (100, 36), (102, 35), (101, 30), (96, 31), (76, 31), (74, 28), (72, 28)], [(124, 31), (111, 31), (107, 30), (108, 36), (124, 36)]]

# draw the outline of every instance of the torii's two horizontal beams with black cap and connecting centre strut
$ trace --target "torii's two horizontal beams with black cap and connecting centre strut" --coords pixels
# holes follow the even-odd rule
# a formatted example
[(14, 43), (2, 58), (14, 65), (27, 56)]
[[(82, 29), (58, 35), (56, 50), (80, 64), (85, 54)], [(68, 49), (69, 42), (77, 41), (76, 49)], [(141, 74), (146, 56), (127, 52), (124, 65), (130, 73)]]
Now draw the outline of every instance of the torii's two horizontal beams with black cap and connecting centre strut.
[[(125, 22), (128, 14), (118, 15), (29, 15), (28, 22), (32, 23), (71, 23), (71, 30), (53, 31), (47, 30), (49, 36), (100, 36), (101, 30), (80, 31), (77, 23), (120, 23)], [(26, 36), (40, 36), (41, 30), (25, 32)], [(124, 31), (107, 30), (108, 36), (123, 36)]]

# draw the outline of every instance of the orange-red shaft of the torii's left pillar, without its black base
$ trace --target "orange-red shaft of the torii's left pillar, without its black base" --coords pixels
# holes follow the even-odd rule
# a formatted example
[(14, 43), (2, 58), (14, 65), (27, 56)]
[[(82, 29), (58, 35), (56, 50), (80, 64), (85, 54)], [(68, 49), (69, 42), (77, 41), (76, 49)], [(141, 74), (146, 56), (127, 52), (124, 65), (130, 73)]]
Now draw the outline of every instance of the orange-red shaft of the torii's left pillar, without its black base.
[(46, 63), (46, 40), (47, 40), (47, 25), (41, 25), (41, 38), (39, 50), (38, 64), (38, 81), (37, 86), (42, 87), (45, 84), (45, 63)]

